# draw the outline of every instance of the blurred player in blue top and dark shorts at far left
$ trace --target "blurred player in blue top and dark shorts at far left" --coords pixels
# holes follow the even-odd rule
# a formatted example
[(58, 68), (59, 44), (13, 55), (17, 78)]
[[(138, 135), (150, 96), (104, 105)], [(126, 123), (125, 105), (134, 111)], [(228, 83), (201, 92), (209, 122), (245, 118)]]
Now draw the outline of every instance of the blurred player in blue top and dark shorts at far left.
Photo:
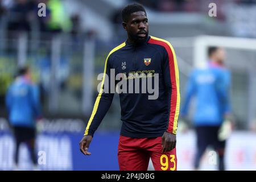
[(39, 90), (31, 80), (30, 68), (23, 67), (18, 70), (18, 75), (6, 94), (6, 105), (9, 111), (9, 122), (13, 127), (16, 140), (14, 169), (18, 169), (19, 146), (24, 142), (27, 144), (36, 170), (35, 121), (40, 117), (40, 103)]

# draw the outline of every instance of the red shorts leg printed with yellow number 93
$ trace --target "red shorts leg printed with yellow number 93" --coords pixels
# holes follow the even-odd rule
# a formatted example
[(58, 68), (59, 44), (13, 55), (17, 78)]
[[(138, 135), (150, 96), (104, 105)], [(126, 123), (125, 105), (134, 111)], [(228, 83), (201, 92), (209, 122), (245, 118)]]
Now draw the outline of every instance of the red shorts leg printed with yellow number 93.
[(151, 152), (151, 160), (156, 171), (176, 171), (176, 148), (162, 153), (162, 150)]

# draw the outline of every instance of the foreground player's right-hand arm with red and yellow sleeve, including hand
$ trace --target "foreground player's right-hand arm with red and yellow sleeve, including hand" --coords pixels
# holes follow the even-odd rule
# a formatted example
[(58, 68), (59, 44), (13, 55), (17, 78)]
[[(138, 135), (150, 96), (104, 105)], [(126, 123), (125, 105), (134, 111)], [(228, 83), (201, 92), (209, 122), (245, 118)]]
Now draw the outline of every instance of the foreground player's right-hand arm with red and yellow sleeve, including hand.
[(168, 97), (168, 126), (162, 137), (163, 152), (176, 147), (177, 120), (180, 108), (179, 69), (174, 48), (167, 43), (162, 64), (164, 84)]

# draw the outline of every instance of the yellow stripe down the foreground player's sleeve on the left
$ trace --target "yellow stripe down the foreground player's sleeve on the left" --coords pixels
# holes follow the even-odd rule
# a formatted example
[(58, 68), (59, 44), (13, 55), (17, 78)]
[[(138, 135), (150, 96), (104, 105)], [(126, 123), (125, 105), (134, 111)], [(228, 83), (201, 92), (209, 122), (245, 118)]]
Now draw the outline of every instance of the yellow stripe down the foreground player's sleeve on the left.
[(93, 106), (92, 115), (90, 115), (90, 119), (89, 119), (89, 122), (88, 122), (88, 124), (87, 124), (87, 126), (86, 126), (84, 135), (88, 135), (90, 125), (91, 125), (91, 123), (92, 123), (92, 121), (93, 121), (94, 115), (95, 115), (96, 112), (97, 112), (98, 104), (100, 103), (100, 100), (101, 100), (101, 94), (102, 94), (102, 92), (103, 92), (103, 85), (104, 85), (105, 75), (106, 75), (106, 66), (107, 66), (107, 63), (108, 63), (109, 56), (110, 56), (113, 52), (117, 51), (118, 49), (121, 49), (122, 47), (125, 47), (125, 42), (123, 42), (123, 43), (120, 44), (119, 46), (117, 46), (117, 47), (115, 47), (114, 49), (112, 49), (112, 51), (109, 52), (109, 55), (108, 55), (108, 57), (106, 58), (105, 67), (104, 67), (104, 73), (103, 73), (102, 82), (101, 82), (101, 87), (100, 87), (100, 93), (98, 93), (98, 97), (96, 98), (95, 104), (94, 104), (94, 106)]

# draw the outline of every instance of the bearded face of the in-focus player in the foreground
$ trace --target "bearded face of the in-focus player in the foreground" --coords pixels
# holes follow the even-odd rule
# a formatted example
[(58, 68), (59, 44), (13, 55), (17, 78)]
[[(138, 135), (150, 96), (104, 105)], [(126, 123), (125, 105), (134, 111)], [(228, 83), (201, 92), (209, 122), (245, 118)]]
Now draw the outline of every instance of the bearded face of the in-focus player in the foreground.
[(128, 38), (136, 43), (144, 42), (148, 36), (148, 19), (144, 11), (137, 11), (130, 15), (127, 23), (123, 23)]

